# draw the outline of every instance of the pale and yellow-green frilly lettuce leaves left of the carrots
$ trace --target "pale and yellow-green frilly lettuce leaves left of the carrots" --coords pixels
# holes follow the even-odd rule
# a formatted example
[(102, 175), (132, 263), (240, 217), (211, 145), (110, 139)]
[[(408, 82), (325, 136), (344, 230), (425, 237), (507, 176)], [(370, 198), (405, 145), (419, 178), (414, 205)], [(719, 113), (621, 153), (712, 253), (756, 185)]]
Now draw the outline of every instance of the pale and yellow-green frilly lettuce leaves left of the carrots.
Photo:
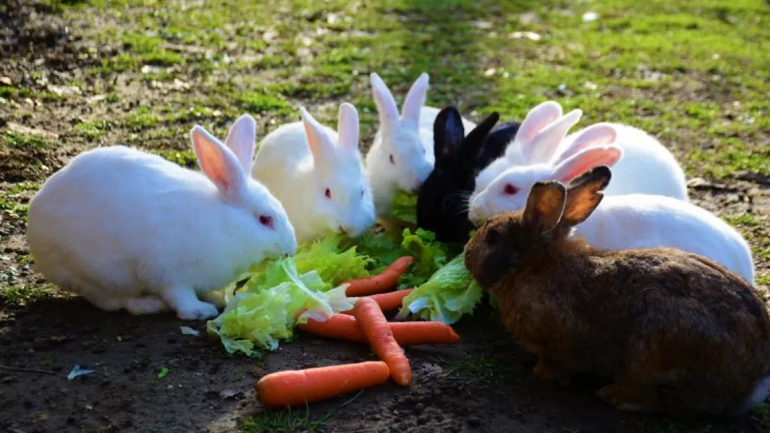
[(254, 265), (223, 289), (226, 308), (206, 324), (209, 334), (218, 335), (228, 353), (258, 356), (291, 338), (298, 321), (323, 321), (353, 308), (355, 298), (346, 297), (341, 283), (369, 276), (369, 260), (355, 247), (340, 250), (340, 241), (333, 236), (302, 245), (293, 257)]

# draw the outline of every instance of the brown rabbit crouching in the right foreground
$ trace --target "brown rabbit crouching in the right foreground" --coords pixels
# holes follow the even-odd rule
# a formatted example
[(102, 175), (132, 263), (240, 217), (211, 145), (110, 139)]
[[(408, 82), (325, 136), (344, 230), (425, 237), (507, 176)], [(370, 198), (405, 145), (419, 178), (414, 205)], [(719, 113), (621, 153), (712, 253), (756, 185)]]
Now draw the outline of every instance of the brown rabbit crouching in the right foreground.
[(497, 297), (534, 373), (594, 372), (623, 411), (742, 416), (770, 391), (770, 318), (752, 286), (715, 261), (673, 248), (599, 251), (571, 231), (611, 178), (606, 166), (567, 188), (538, 182), (524, 212), (496, 215), (465, 264)]

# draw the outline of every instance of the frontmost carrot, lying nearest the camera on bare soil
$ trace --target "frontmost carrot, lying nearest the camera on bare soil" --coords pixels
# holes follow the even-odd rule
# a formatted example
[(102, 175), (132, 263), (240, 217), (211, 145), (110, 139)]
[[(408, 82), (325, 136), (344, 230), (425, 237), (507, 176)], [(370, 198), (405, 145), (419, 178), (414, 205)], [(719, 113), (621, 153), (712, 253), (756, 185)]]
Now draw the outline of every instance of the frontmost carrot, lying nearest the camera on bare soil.
[(380, 385), (389, 376), (383, 361), (330, 365), (270, 373), (256, 382), (256, 391), (263, 405), (284, 408)]

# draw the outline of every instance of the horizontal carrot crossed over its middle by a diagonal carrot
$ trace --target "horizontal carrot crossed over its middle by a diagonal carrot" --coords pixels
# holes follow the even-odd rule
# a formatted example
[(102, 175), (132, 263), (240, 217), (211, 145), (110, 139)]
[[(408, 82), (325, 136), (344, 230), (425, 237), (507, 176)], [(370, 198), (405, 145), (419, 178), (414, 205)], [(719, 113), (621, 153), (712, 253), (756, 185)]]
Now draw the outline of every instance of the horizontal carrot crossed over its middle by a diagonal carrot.
[[(449, 325), (440, 321), (391, 321), (390, 331), (399, 345), (440, 345), (454, 343), (460, 340)], [(336, 314), (326, 321), (308, 320), (306, 324), (298, 325), (300, 329), (326, 338), (368, 343), (367, 335), (351, 315)]]

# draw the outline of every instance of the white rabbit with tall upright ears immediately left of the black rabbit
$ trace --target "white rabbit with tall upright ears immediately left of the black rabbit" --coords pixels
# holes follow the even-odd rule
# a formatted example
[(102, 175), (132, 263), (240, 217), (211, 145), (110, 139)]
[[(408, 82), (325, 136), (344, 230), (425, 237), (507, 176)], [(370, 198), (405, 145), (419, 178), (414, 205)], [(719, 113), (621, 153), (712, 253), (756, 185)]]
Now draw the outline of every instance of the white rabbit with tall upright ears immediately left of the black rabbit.
[[(380, 127), (367, 152), (366, 163), (377, 215), (387, 215), (393, 195), (399, 190), (417, 192), (433, 171), (434, 121), (440, 110), (423, 106), (428, 79), (425, 72), (417, 78), (399, 114), (396, 100), (380, 75), (370, 75)], [(465, 131), (476, 127), (474, 122), (462, 120)]]

